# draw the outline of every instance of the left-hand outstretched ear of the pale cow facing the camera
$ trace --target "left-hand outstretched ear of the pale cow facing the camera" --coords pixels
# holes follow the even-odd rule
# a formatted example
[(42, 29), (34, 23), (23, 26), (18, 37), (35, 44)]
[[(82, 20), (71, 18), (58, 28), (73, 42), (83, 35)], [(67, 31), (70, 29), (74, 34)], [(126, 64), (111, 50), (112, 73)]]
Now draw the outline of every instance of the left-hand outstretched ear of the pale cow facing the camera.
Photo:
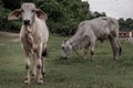
[(21, 16), (21, 9), (17, 9), (9, 14), (8, 20), (18, 20), (20, 16)]

